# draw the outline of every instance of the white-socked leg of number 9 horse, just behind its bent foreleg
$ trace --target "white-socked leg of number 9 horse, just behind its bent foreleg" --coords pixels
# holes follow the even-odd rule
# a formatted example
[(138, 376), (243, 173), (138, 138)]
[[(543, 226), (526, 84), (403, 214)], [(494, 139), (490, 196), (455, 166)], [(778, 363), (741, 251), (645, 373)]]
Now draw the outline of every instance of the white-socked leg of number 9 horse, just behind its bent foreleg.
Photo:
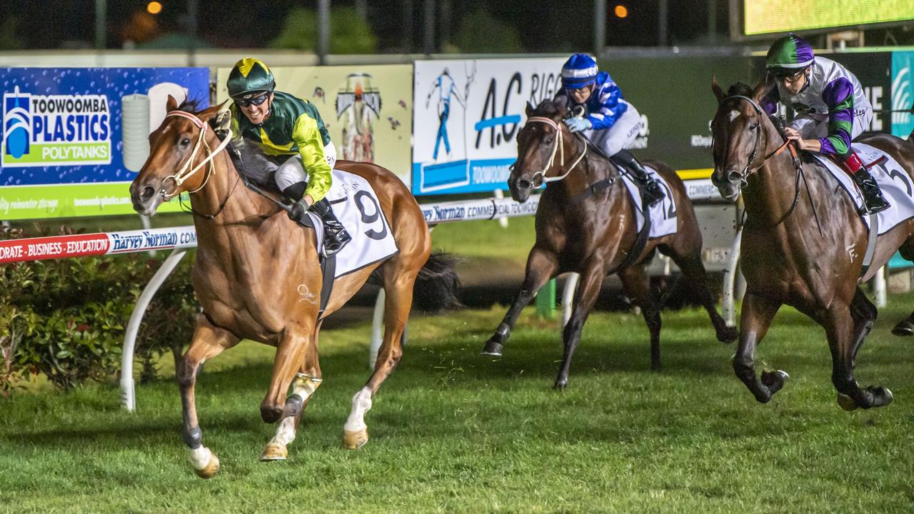
[(321, 366), (317, 358), (317, 334), (322, 321), (317, 322), (314, 336), (309, 341), (305, 350), (304, 362), (295, 378), (292, 379), (292, 393), (286, 398), (282, 409), (283, 418), (276, 424), (276, 434), (263, 449), (261, 461), (284, 460), (289, 455), (288, 445), (295, 440), (298, 425), (302, 422), (302, 415), (314, 391), (324, 381)]

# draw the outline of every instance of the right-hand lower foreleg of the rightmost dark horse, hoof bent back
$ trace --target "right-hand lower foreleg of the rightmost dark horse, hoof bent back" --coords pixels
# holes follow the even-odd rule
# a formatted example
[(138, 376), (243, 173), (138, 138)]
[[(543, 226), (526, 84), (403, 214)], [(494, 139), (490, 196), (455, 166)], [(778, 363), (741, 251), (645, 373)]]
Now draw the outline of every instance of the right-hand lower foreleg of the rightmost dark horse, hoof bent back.
[[(857, 289), (858, 294), (863, 293)], [(838, 391), (838, 405), (845, 411), (856, 408), (869, 409), (882, 407), (892, 402), (892, 391), (884, 387), (861, 389), (854, 378), (856, 352), (863, 345), (866, 333), (872, 327), (872, 319), (866, 315), (866, 303), (855, 294), (851, 308), (846, 305), (833, 305), (824, 316), (825, 334), (828, 337), (828, 348), (832, 352), (832, 383)], [(869, 304), (872, 306), (872, 304)], [(876, 308), (870, 315), (875, 319)]]

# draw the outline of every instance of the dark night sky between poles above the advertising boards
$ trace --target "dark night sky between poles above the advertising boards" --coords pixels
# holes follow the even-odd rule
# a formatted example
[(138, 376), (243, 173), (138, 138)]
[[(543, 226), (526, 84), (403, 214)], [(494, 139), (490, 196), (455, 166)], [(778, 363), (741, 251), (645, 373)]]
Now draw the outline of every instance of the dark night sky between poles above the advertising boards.
[[(181, 31), (180, 20), (187, 0), (160, 0), (165, 8), (158, 16), (165, 31)], [(444, 0), (438, 0), (439, 8)], [(199, 34), (214, 47), (264, 46), (282, 27), (286, 12), (301, 5), (314, 9), (316, 0), (198, 0)], [(332, 5), (354, 5), (353, 0), (332, 0)], [(399, 51), (402, 43), (404, 5), (414, 13), (412, 40), (416, 51), (422, 45), (424, 0), (368, 0), (369, 23), (378, 37), (379, 51)], [(629, 8), (621, 20), (607, 16), (607, 44), (612, 46), (654, 46), (657, 40), (659, 0), (608, 0)], [(694, 42), (707, 35), (707, 0), (670, 0), (671, 43)], [(146, 0), (108, 0), (107, 45), (121, 48), (122, 27), (135, 11), (143, 11)], [(533, 2), (530, 0), (450, 0), (451, 33), (460, 27), (462, 16), (485, 5), (503, 24), (515, 27), (526, 51), (555, 52), (592, 47), (592, 0)], [(727, 34), (727, 0), (717, 0), (717, 33)], [(15, 16), (16, 36), (23, 48), (60, 48), (65, 41), (95, 40), (94, 0), (7, 0), (0, 2), (0, 20)], [(71, 44), (72, 45), (72, 44)]]

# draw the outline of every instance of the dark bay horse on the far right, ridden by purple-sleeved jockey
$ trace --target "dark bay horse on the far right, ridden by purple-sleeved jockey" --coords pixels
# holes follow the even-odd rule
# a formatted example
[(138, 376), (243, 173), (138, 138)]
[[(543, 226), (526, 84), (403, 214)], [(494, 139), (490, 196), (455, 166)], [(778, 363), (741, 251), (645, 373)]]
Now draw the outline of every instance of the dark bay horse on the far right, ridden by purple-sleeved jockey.
[[(818, 162), (794, 163), (784, 139), (759, 106), (764, 83), (754, 90), (737, 84), (725, 94), (717, 80), (717, 114), (712, 181), (721, 196), (746, 204), (742, 272), (746, 295), (739, 323), (739, 348), (733, 369), (756, 400), (768, 402), (787, 374), (754, 366), (755, 348), (781, 305), (792, 305), (825, 328), (832, 352), (832, 382), (845, 410), (887, 405), (882, 387), (862, 389), (854, 379), (856, 355), (876, 319), (876, 306), (859, 284), (903, 247), (914, 249), (914, 221), (907, 220), (877, 239), (873, 261), (862, 271), (868, 230), (837, 180)], [(880, 134), (862, 142), (891, 154), (906, 171), (914, 169), (914, 145)], [(797, 164), (799, 166), (797, 166)]]

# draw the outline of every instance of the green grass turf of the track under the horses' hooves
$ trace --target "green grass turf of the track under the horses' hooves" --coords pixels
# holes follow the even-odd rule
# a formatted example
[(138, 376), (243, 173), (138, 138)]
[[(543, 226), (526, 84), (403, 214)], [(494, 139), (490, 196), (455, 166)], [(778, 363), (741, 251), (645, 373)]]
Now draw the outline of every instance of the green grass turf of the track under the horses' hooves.
[(914, 350), (889, 329), (912, 299), (891, 297), (860, 353), (860, 383), (895, 393), (872, 411), (838, 408), (824, 331), (786, 308), (757, 361), (792, 378), (767, 405), (697, 310), (664, 313), (661, 373), (640, 316), (595, 313), (563, 392), (558, 328), (532, 310), (501, 360), (479, 350), (504, 307), (413, 316), (357, 451), (340, 436), (368, 376), (368, 320), (327, 331), (324, 385), (274, 463), (258, 461), (271, 348), (245, 342), (198, 383), (222, 462), (211, 480), (187, 463), (172, 380), (138, 386), (133, 414), (113, 385), (19, 394), (0, 401), (0, 511), (910, 512)]

